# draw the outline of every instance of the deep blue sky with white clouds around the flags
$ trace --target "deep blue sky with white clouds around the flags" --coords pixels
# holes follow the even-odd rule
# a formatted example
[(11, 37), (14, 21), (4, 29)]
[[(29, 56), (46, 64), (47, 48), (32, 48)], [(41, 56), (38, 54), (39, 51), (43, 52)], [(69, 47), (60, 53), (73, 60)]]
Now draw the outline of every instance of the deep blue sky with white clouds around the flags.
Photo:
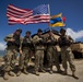
[[(13, 33), (16, 28), (22, 28), (22, 36), (26, 31), (32, 34), (37, 32), (37, 28), (47, 28), (47, 23), (28, 24), (28, 25), (9, 25), (7, 19), (8, 4), (14, 4), (22, 9), (34, 9), (39, 4), (50, 5), (50, 15), (62, 13), (66, 16), (68, 34), (75, 36), (75, 40), (83, 42), (83, 1), (82, 0), (0, 0), (0, 45), (4, 44), (5, 35)], [(55, 27), (60, 30), (60, 27)], [(78, 36), (78, 37), (76, 37)]]

